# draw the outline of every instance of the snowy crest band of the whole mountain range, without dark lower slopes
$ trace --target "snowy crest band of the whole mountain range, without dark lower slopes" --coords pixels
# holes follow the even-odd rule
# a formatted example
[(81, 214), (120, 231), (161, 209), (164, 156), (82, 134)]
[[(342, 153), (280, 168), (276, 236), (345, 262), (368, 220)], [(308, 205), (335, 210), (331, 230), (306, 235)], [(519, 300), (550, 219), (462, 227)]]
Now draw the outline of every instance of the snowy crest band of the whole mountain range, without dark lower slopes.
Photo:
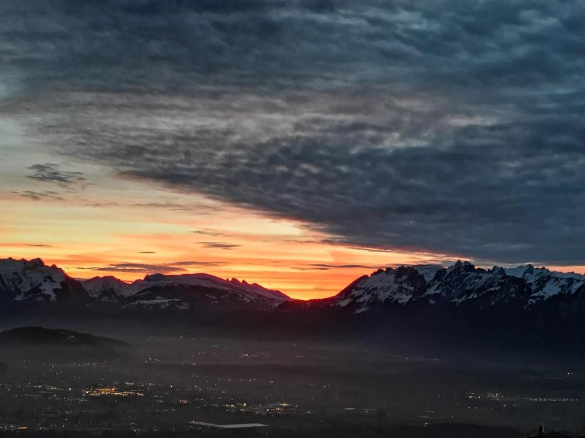
[[(421, 276), (422, 279), (417, 276)], [(518, 283), (515, 279), (524, 281), (524, 284)], [(353, 290), (348, 296), (347, 289), (352, 288), (352, 285), (354, 285)], [(585, 286), (585, 274), (552, 271), (546, 267), (535, 267), (531, 264), (483, 269), (461, 260), (457, 260), (449, 267), (401, 265), (378, 269), (369, 275), (363, 275), (334, 296), (306, 301), (312, 303), (333, 300), (335, 305), (340, 307), (349, 304), (352, 297), (356, 298), (356, 302), (363, 304), (370, 302), (405, 304), (413, 299), (421, 300), (422, 297), (450, 299), (453, 303), (460, 303), (484, 294), (485, 291), (479, 294), (477, 290), (486, 286), (500, 290), (508, 287), (507, 294), (504, 294), (502, 298), (510, 298), (511, 294), (519, 293), (522, 287), (529, 287), (530, 291), (524, 293), (529, 298), (527, 304), (532, 305), (537, 301), (562, 293), (581, 293)], [(516, 287), (510, 290), (511, 286)], [(286, 301), (304, 301), (293, 300), (281, 291), (270, 290), (257, 283), (247, 283), (246, 280), (240, 281), (235, 278), (222, 279), (206, 273), (153, 273), (131, 282), (114, 276), (73, 279), (56, 265), (45, 265), (39, 258), (0, 259), (0, 297), (12, 297), (15, 301), (33, 300), (56, 303), (59, 298), (70, 295), (118, 303), (128, 302), (129, 298), (146, 290), (168, 287), (185, 290), (187, 288), (215, 288), (233, 291), (242, 296), (243, 300), (261, 301), (266, 298), (274, 301), (275, 306)], [(475, 292), (470, 294), (471, 289)], [(365, 307), (362, 308), (360, 312), (367, 310)]]

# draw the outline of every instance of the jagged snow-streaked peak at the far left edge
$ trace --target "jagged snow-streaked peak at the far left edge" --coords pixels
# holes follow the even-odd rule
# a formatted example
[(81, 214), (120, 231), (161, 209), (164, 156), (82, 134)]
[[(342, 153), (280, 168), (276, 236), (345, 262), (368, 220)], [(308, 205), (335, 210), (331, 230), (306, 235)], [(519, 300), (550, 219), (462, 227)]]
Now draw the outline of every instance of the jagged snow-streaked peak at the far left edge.
[(2, 301), (57, 303), (75, 297), (85, 298), (87, 292), (59, 267), (41, 259), (0, 259)]

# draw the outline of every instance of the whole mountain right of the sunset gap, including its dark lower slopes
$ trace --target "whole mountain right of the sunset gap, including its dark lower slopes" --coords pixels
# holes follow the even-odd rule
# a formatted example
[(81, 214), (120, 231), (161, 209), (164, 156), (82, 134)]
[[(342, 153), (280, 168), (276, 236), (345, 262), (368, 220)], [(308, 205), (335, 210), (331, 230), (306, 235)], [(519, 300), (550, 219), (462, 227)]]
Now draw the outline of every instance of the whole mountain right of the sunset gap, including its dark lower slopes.
[(339, 294), (284, 303), (261, 327), (407, 346), (464, 345), (581, 354), (585, 279), (531, 266), (388, 267)]

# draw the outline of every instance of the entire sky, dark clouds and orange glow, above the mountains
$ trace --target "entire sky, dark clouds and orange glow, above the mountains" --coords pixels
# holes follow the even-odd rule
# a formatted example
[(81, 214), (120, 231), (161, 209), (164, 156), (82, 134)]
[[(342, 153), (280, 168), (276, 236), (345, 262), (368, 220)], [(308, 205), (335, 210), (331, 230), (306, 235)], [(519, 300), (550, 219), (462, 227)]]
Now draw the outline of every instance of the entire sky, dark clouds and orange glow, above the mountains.
[(331, 296), (585, 272), (579, 0), (4, 0), (0, 257)]

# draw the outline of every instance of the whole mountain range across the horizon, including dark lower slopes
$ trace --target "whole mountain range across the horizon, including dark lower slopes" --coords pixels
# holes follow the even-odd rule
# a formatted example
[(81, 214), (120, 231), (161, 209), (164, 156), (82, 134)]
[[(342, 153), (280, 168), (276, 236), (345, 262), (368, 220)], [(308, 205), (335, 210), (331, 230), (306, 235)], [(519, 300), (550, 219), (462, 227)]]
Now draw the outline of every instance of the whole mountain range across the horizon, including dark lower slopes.
[(40, 259), (0, 259), (2, 308), (59, 314), (215, 321), (259, 331), (425, 333), (480, 339), (538, 338), (585, 345), (585, 275), (469, 262), (379, 269), (333, 297), (293, 300), (277, 290), (209, 274), (75, 280)]

